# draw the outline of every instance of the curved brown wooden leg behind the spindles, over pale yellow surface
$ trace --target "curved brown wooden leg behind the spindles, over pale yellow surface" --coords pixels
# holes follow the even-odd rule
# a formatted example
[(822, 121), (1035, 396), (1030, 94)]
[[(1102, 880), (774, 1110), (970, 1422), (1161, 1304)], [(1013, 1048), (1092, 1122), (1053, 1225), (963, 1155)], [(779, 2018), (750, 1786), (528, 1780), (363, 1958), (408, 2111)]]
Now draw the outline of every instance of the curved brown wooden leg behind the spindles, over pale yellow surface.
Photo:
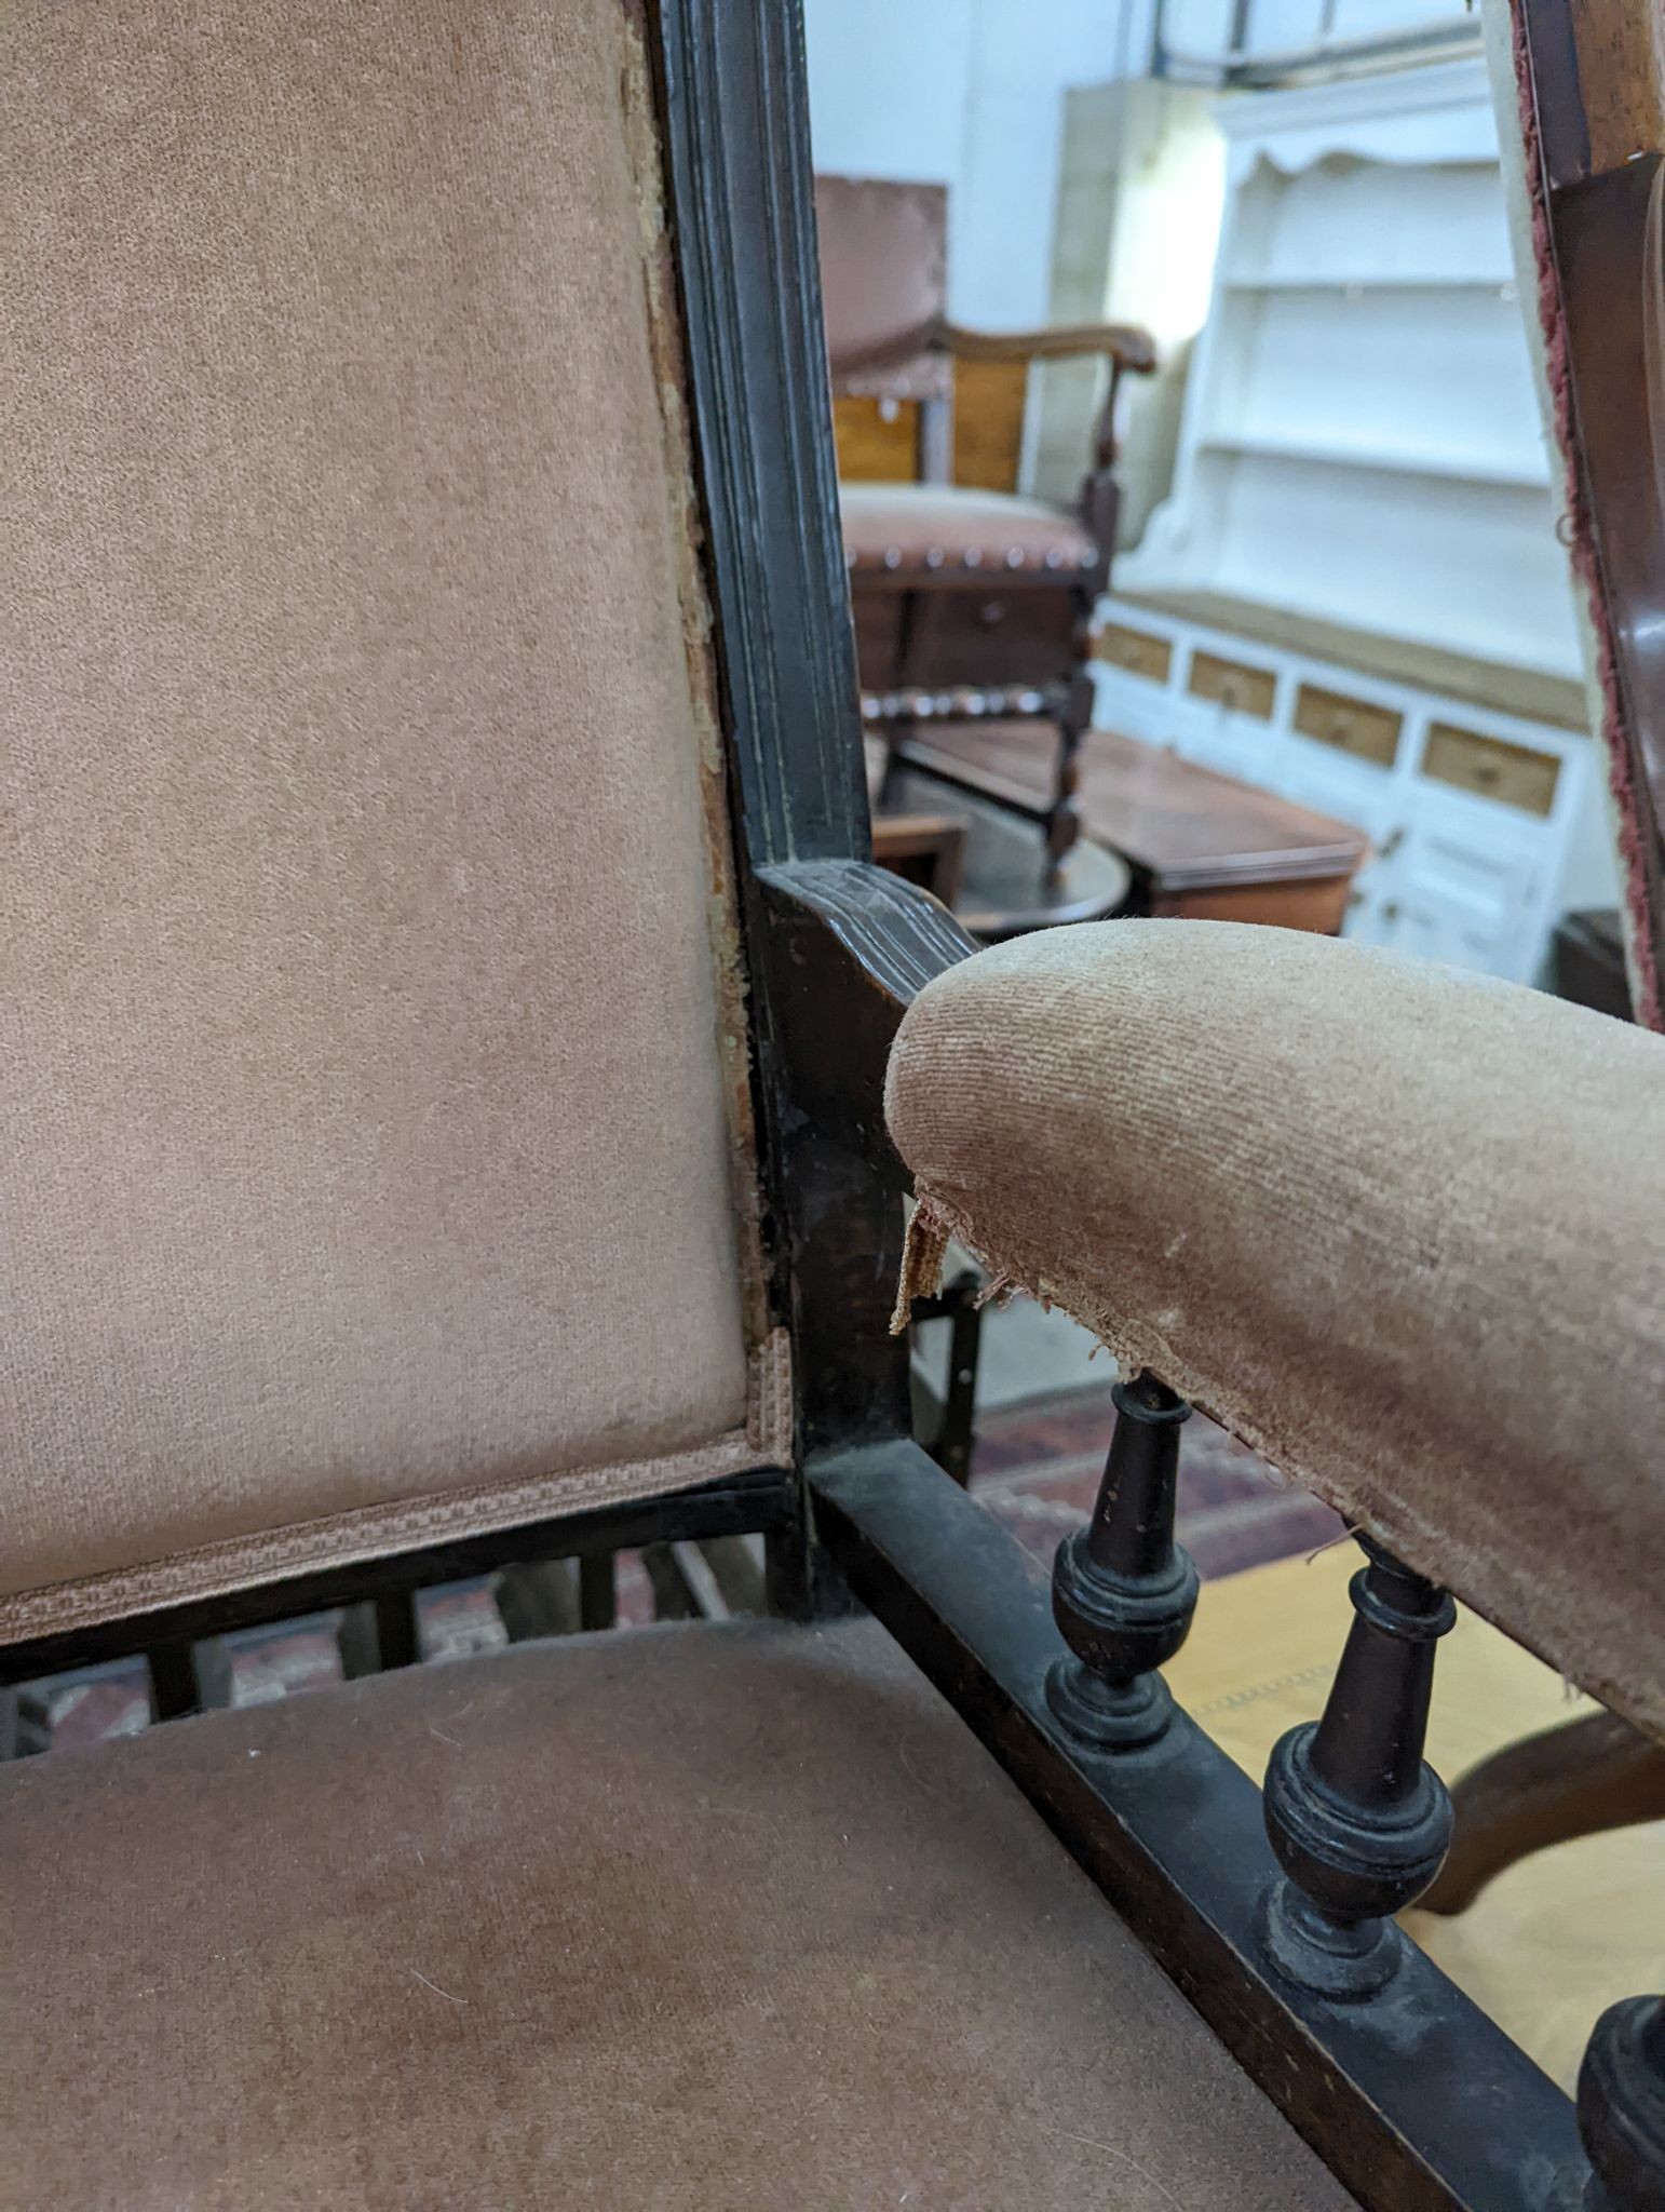
[(1665, 1818), (1665, 1747), (1614, 1712), (1539, 1730), (1481, 1759), (1451, 1792), (1457, 1834), (1428, 1913), (1462, 1913), (1532, 1851), (1610, 1827)]

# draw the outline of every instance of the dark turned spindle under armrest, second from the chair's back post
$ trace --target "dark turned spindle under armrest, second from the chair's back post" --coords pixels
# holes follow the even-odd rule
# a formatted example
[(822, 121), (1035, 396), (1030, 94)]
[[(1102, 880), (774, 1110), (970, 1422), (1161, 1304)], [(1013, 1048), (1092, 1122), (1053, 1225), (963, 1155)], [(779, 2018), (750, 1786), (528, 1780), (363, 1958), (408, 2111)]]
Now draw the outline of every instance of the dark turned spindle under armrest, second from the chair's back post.
[(1451, 1798), (1424, 1761), (1433, 1648), (1451, 1597), (1360, 1535), (1353, 1626), (1324, 1714), (1271, 1752), (1265, 1818), (1282, 1880), (1263, 1936), (1274, 1964), (1327, 1997), (1369, 1997), (1404, 1955), (1393, 1924), (1439, 1871)]

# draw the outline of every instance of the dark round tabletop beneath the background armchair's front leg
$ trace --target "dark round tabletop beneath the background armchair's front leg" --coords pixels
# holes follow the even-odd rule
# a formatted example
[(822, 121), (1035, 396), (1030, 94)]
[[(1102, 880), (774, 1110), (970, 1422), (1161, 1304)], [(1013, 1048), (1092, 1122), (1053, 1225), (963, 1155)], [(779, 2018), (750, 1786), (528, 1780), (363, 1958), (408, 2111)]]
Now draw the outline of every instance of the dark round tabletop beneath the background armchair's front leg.
[(1132, 869), (1121, 854), (1083, 836), (1048, 876), (1039, 823), (940, 776), (900, 768), (878, 812), (953, 814), (964, 821), (964, 867), (953, 914), (982, 945), (1061, 922), (1101, 922), (1128, 905)]

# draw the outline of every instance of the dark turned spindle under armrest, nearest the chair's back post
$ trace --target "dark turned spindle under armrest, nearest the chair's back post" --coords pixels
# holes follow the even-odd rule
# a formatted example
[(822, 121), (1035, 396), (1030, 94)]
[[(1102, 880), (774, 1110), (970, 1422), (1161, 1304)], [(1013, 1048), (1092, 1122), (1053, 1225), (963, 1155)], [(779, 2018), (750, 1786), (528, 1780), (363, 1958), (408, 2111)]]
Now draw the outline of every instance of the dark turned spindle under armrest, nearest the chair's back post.
[(1086, 1528), (1053, 1562), (1053, 1619), (1070, 1646), (1046, 1701), (1101, 1750), (1154, 1743), (1174, 1701), (1156, 1672), (1185, 1641), (1196, 1568), (1174, 1544), (1179, 1431), (1190, 1407), (1150, 1374), (1112, 1389), (1117, 1431)]

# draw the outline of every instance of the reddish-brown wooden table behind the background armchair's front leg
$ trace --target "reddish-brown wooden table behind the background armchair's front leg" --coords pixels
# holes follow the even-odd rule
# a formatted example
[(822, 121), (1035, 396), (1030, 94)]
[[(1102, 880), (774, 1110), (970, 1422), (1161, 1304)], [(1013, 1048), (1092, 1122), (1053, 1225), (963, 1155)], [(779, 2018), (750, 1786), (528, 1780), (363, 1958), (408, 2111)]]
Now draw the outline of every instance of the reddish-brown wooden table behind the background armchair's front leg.
[[(933, 732), (929, 750), (991, 792), (1035, 803), (1048, 792), (1050, 743), (1033, 726), (991, 723)], [(915, 737), (915, 757), (924, 750)], [(1128, 860), (1141, 914), (1333, 936), (1369, 856), (1369, 838), (1349, 823), (1108, 730), (1081, 745), (1079, 805), (1088, 836)]]

